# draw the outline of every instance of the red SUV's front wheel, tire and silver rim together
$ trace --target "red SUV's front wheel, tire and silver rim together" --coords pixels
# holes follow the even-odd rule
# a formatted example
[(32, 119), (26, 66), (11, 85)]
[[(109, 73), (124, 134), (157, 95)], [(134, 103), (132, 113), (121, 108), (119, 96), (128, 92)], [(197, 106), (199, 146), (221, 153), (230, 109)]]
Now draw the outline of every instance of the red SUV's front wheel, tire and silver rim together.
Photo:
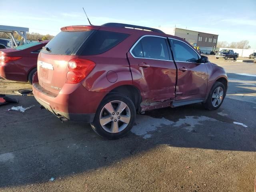
[(226, 96), (226, 88), (221, 82), (215, 82), (210, 90), (205, 103), (202, 103), (204, 108), (208, 110), (218, 109)]

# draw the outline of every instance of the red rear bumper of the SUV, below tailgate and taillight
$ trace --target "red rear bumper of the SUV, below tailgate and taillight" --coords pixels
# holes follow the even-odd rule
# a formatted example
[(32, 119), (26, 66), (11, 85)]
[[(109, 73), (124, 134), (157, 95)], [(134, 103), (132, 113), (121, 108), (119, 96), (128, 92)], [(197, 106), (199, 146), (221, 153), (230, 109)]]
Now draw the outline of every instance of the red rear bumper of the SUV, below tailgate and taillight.
[[(33, 81), (33, 94), (36, 100), (58, 118), (92, 122), (96, 110), (108, 92), (90, 92), (82, 84), (64, 84), (58, 94), (50, 94)], [(39, 86), (38, 86), (39, 85)], [(42, 89), (40, 89), (42, 88)]]

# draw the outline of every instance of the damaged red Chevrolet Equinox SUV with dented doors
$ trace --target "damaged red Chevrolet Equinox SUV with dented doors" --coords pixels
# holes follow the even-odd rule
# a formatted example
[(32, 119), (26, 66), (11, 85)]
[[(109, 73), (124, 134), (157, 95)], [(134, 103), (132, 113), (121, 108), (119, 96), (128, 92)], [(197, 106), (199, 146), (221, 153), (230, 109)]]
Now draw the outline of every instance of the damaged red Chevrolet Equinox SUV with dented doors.
[(38, 56), (36, 100), (60, 120), (89, 122), (116, 139), (136, 112), (202, 102), (222, 104), (228, 78), (188, 42), (142, 26), (67, 26)]

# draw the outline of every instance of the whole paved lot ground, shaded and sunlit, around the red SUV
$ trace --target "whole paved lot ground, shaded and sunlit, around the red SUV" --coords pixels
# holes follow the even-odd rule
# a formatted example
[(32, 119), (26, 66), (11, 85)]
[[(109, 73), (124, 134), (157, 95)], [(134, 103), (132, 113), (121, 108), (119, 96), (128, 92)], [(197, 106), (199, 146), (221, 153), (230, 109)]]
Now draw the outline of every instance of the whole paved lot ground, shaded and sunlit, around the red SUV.
[[(30, 84), (0, 80), (0, 94), (20, 100), (0, 106), (0, 191), (253, 192), (256, 64), (209, 60), (229, 77), (218, 110), (193, 104), (146, 112), (119, 140), (61, 123), (33, 96), (16, 94)], [(35, 106), (8, 111), (20, 105)]]

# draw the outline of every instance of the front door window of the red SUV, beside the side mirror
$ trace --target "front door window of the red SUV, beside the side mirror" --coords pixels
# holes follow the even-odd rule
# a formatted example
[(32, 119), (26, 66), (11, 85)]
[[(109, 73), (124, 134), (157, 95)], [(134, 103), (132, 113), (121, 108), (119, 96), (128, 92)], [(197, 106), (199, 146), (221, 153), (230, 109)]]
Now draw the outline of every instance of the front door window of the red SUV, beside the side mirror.
[(197, 62), (199, 59), (198, 54), (187, 44), (169, 39), (174, 54), (174, 60), (180, 62)]

